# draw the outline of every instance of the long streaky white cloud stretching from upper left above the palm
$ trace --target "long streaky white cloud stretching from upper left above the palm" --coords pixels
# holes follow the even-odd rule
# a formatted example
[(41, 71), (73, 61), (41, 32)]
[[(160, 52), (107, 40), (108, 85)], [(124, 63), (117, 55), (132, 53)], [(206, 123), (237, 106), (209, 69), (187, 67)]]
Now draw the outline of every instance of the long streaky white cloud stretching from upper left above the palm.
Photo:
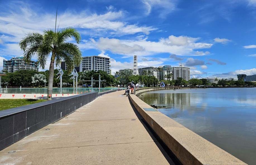
[[(33, 6), (32, 9), (29, 4), (23, 2), (14, 1), (10, 3), (11, 5), (6, 4), (5, 13), (0, 16), (0, 32), (7, 34), (9, 38), (6, 38), (7, 40), (19, 42), (28, 32), (34, 31), (41, 33), (44, 29), (54, 28), (54, 14), (44, 13), (44, 11), (40, 11), (40, 8), (36, 9), (36, 6)], [(10, 8), (9, 6), (16, 7)], [(66, 11), (58, 14), (57, 19), (60, 21), (59, 28), (71, 26), (79, 28), (81, 33), (83, 30), (91, 30), (94, 32), (94, 35), (149, 34), (150, 31), (157, 29), (150, 26), (128, 24), (122, 21), (123, 17), (125, 17), (125, 14), (121, 10), (107, 11), (104, 14), (89, 13), (88, 11), (82, 11), (80, 13)]]

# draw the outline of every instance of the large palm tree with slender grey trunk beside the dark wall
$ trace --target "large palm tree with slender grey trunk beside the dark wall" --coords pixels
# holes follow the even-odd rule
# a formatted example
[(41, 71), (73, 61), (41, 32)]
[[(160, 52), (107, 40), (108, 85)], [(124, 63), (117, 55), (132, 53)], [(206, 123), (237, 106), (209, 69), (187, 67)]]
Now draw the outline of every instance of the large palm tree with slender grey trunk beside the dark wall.
[[(56, 27), (56, 26), (55, 26)], [(74, 37), (77, 44), (80, 43), (81, 36), (74, 28), (64, 28), (56, 32), (53, 30), (44, 30), (43, 34), (28, 33), (20, 41), (20, 48), (24, 51), (24, 58), (29, 61), (32, 56), (37, 55), (37, 61), (42, 69), (45, 68), (47, 59), (51, 54), (51, 63), (49, 67), (48, 94), (47, 99), (51, 100), (52, 85), (54, 76), (54, 63), (59, 64), (62, 60), (71, 71), (74, 65), (79, 65), (82, 60), (82, 53), (74, 43), (68, 43), (70, 37)]]

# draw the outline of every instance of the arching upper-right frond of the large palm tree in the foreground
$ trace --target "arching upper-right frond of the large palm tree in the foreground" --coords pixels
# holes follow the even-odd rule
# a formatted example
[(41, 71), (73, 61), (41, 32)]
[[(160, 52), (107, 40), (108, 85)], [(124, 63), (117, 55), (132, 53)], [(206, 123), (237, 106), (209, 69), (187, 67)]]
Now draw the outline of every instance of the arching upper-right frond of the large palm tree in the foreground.
[(71, 27), (64, 28), (61, 31), (59, 31), (57, 34), (58, 34), (58, 43), (62, 43), (71, 37), (75, 38), (77, 44), (79, 44), (81, 40), (80, 33), (76, 29)]

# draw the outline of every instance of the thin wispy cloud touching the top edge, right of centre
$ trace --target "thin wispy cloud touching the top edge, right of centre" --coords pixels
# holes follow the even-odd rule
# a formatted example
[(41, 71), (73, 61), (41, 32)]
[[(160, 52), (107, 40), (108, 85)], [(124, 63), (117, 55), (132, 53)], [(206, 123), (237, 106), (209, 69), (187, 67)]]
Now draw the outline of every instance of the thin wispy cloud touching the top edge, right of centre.
[(146, 15), (149, 15), (152, 9), (158, 9), (160, 17), (165, 17), (166, 14), (171, 13), (176, 9), (176, 0), (142, 0), (146, 8)]

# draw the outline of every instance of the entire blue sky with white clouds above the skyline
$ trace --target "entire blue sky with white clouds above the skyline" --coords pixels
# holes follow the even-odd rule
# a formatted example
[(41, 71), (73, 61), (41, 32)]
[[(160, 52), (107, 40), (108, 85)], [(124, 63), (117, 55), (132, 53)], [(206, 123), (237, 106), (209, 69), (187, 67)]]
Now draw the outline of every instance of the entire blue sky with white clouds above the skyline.
[(54, 28), (57, 7), (59, 27), (81, 33), (83, 56), (109, 56), (112, 72), (138, 55), (139, 67), (183, 64), (192, 77), (256, 74), (256, 0), (0, 0), (0, 69), (22, 56), (26, 33)]

